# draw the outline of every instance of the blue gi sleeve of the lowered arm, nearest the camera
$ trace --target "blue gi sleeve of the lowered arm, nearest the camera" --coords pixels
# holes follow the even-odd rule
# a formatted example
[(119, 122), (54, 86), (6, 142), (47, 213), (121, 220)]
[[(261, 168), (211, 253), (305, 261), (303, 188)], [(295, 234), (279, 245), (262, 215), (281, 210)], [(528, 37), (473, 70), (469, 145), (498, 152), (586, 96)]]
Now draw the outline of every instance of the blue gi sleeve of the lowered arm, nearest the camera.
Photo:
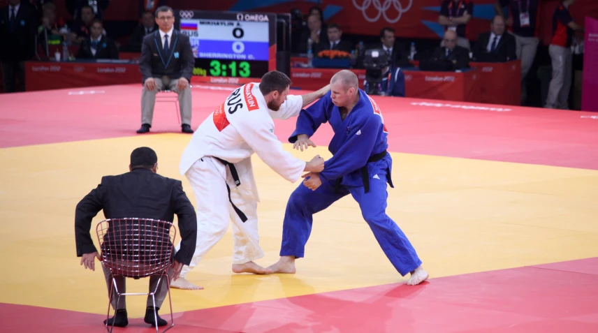
[(381, 119), (377, 114), (372, 113), (360, 118), (357, 124), (352, 125), (349, 140), (324, 163), (320, 177), (330, 181), (362, 168), (367, 163), (367, 158), (372, 155), (380, 126)]

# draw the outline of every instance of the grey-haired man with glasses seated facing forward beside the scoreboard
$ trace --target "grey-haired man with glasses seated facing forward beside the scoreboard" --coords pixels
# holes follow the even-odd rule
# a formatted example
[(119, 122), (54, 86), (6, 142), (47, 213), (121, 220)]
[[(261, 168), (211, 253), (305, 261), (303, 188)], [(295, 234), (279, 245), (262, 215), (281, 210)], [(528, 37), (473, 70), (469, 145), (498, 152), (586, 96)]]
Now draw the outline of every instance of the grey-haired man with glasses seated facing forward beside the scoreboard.
[(174, 29), (175, 15), (170, 7), (156, 10), (159, 30), (143, 38), (139, 69), (143, 75), (141, 96), (141, 128), (147, 133), (152, 127), (156, 94), (170, 89), (179, 96), (182, 132), (191, 130), (191, 75), (195, 59), (189, 37)]

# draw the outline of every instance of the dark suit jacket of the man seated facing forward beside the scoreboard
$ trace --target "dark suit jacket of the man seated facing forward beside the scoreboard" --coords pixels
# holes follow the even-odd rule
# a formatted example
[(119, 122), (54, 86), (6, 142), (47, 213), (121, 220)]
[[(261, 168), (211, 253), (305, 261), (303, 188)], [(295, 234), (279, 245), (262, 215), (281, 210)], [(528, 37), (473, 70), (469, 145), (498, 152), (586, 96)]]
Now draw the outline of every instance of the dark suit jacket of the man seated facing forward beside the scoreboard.
[(161, 77), (163, 75), (173, 79), (184, 77), (191, 82), (195, 58), (193, 57), (189, 36), (173, 30), (168, 53), (164, 54), (159, 30), (143, 38), (139, 59), (139, 70), (143, 75), (142, 82), (145, 82), (148, 77)]

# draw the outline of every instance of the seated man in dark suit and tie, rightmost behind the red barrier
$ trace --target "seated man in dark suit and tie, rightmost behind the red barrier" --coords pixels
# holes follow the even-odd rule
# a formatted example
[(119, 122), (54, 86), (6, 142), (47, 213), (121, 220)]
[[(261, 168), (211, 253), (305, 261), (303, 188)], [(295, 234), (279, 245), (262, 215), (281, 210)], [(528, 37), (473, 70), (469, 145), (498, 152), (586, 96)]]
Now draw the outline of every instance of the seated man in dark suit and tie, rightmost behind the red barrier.
[(517, 58), (515, 37), (504, 31), (504, 17), (496, 15), (490, 23), (490, 31), (479, 35), (474, 46), (476, 61), (502, 62)]

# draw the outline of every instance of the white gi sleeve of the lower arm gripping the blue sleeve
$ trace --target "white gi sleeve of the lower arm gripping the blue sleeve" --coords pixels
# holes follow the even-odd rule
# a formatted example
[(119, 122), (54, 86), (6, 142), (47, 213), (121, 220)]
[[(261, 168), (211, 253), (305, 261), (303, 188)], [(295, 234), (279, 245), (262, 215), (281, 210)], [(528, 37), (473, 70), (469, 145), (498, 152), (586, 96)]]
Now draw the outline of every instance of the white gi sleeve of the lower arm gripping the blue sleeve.
[(265, 113), (248, 112), (247, 115), (235, 126), (243, 140), (277, 174), (289, 182), (296, 182), (305, 170), (305, 161), (282, 148), (282, 142), (274, 134), (272, 119), (268, 119)]

